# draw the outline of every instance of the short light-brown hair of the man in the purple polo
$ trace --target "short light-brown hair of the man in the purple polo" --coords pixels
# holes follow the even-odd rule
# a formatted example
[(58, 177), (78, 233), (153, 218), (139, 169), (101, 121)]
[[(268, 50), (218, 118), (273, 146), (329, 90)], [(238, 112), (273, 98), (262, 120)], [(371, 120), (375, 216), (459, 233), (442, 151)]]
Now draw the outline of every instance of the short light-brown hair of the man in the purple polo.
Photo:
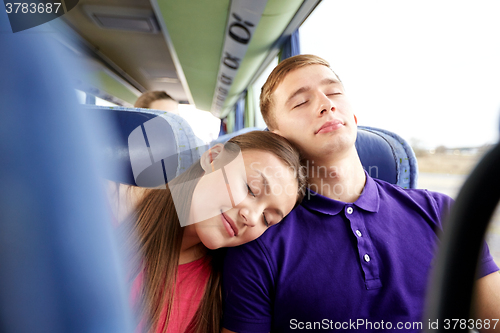
[[(302, 68), (309, 65), (323, 65), (330, 68), (330, 64), (325, 59), (312, 55), (312, 54), (300, 54), (294, 57), (287, 58), (280, 62), (278, 66), (276, 66), (269, 77), (267, 78), (266, 83), (262, 86), (262, 90), (260, 93), (260, 112), (262, 113), (262, 117), (266, 122), (269, 130), (274, 130), (278, 128), (276, 123), (276, 116), (274, 112), (271, 111), (273, 107), (273, 93), (276, 88), (279, 86), (281, 82), (285, 79), (288, 73), (298, 68)], [(330, 68), (330, 70), (332, 70)], [(333, 70), (332, 70), (333, 72)], [(335, 72), (333, 72), (335, 74)], [(338, 75), (335, 74), (335, 76)], [(340, 79), (339, 79), (340, 81)]]

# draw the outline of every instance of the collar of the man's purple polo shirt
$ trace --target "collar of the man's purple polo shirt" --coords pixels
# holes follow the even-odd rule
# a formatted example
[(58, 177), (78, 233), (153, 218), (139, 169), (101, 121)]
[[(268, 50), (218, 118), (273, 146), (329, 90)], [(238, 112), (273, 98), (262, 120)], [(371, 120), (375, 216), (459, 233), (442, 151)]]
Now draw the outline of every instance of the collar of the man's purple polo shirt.
[[(363, 210), (376, 213), (379, 209), (380, 196), (375, 181), (366, 173), (366, 183), (361, 196), (353, 204)], [(327, 198), (307, 189), (302, 205), (323, 214), (337, 215), (347, 203)]]

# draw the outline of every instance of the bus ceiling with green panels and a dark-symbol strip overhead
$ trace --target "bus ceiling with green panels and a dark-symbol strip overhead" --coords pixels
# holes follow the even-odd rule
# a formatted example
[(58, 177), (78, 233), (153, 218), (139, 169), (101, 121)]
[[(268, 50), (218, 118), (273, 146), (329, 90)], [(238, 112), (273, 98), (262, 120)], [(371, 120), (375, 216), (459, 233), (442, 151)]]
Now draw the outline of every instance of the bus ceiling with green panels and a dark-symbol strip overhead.
[(123, 106), (165, 90), (223, 118), (320, 1), (80, 0), (52, 25), (86, 62), (78, 89)]

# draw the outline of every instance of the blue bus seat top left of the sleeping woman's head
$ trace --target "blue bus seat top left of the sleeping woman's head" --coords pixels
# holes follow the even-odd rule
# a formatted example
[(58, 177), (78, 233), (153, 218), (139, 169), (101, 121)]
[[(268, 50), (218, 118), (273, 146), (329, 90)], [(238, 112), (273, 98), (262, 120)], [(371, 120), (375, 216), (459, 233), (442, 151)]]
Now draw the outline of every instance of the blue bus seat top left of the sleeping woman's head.
[(105, 177), (117, 183), (156, 187), (167, 183), (200, 159), (208, 146), (176, 114), (140, 108), (86, 105), (115, 125), (116, 137), (101, 143), (103, 159), (121, 173)]

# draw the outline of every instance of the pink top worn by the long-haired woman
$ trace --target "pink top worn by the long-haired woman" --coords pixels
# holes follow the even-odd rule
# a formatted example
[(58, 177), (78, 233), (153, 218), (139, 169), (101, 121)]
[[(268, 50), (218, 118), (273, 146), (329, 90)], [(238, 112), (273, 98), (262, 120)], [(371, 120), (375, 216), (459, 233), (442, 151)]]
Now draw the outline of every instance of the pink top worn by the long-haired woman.
[[(167, 328), (168, 333), (186, 332), (186, 328), (193, 319), (200, 301), (203, 298), (205, 287), (210, 276), (210, 260), (207, 257), (178, 266), (177, 284), (175, 288), (174, 304)], [(144, 279), (144, 272), (139, 273), (132, 285), (132, 302), (137, 302)], [(167, 317), (167, 304), (164, 304), (157, 333), (163, 332)], [(141, 327), (142, 325), (139, 325)], [(140, 330), (139, 330), (140, 331)]]

